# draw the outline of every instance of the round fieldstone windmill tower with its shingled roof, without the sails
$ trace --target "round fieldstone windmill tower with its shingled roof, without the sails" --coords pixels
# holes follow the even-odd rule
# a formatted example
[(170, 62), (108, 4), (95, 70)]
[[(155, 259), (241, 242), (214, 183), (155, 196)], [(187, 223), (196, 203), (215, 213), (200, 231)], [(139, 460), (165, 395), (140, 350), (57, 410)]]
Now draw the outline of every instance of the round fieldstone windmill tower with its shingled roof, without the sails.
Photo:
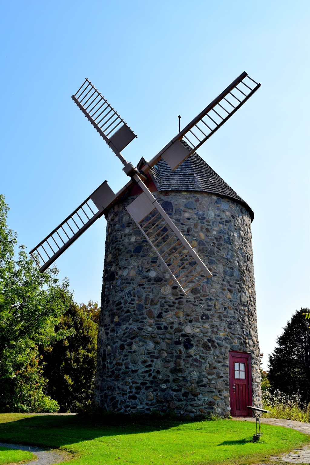
[[(141, 160), (140, 166), (144, 160)], [(198, 154), (148, 186), (212, 277), (184, 295), (125, 206), (107, 217), (95, 403), (112, 412), (249, 415), (261, 406), (251, 208)]]

